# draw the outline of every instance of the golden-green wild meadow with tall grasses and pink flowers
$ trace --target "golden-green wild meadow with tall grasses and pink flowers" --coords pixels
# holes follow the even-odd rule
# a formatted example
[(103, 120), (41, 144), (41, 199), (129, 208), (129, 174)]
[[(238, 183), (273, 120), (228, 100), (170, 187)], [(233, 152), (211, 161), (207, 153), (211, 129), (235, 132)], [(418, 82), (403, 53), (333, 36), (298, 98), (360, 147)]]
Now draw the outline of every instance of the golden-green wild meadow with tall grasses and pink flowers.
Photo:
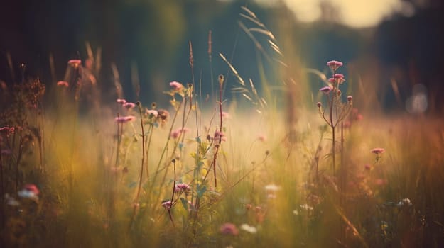
[[(242, 11), (264, 60), (288, 66)], [(191, 47), (193, 77), (166, 82), (164, 106), (127, 101), (118, 80), (100, 101), (90, 49), (57, 84), (1, 85), (0, 247), (443, 247), (442, 118), (358, 110), (377, 89), (343, 89), (336, 60), (307, 71), (319, 90), (275, 91), (213, 55), (229, 74), (208, 94)]]

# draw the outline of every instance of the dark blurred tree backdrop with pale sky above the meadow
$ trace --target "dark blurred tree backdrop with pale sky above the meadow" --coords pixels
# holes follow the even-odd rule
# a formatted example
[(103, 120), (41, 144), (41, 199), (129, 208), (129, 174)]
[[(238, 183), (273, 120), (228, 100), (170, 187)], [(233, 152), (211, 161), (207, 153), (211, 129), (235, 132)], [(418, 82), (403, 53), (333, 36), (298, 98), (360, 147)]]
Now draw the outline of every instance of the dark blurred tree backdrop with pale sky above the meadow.
[[(0, 9), (0, 80), (18, 81), (23, 63), (26, 77), (55, 85), (63, 80), (68, 60), (85, 62), (88, 43), (92, 52), (101, 51), (97, 84), (102, 96), (116, 97), (114, 63), (124, 97), (149, 104), (166, 99), (159, 92), (167, 90), (170, 81), (192, 81), (191, 42), (195, 77), (204, 94), (212, 91), (212, 77), (228, 73), (219, 53), (243, 77), (258, 82), (264, 80), (258, 53), (239, 28), (239, 21), (246, 21), (239, 16), (241, 6), (254, 11), (271, 30), (289, 71), (298, 72), (313, 94), (322, 81), (311, 74), (301, 76), (300, 68), (327, 73), (325, 63), (340, 60), (351, 93), (366, 98), (359, 101), (362, 108), (377, 104), (386, 112), (444, 113), (440, 0), (9, 1)], [(274, 75), (279, 73), (276, 65), (264, 68), (267, 80), (280, 80)], [(139, 97), (134, 81), (140, 84)], [(227, 83), (236, 85), (234, 77)], [(313, 94), (307, 94), (306, 101), (314, 101)]]

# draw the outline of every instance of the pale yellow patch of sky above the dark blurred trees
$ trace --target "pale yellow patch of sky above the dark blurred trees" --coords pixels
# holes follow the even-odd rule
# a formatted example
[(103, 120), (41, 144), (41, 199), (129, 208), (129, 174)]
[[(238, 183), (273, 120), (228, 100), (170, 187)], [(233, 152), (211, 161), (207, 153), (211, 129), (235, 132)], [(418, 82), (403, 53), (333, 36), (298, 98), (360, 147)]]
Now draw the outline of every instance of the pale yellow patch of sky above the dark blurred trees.
[(384, 18), (394, 13), (411, 16), (413, 6), (401, 0), (256, 0), (264, 5), (284, 2), (296, 15), (298, 21), (313, 22), (321, 18), (321, 5), (330, 4), (337, 9), (337, 21), (352, 28), (377, 26)]

